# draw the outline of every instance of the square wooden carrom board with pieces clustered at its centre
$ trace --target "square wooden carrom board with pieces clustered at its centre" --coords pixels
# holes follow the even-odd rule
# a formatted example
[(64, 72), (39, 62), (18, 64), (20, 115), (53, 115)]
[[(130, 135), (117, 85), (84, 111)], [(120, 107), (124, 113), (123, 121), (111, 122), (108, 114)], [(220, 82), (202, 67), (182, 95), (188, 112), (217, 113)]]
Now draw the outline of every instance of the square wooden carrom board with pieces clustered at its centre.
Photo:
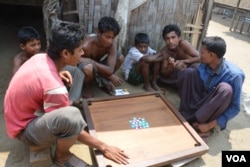
[(208, 146), (158, 92), (92, 98), (83, 103), (89, 133), (129, 155), (119, 165), (92, 149), (99, 167), (163, 166), (197, 157)]

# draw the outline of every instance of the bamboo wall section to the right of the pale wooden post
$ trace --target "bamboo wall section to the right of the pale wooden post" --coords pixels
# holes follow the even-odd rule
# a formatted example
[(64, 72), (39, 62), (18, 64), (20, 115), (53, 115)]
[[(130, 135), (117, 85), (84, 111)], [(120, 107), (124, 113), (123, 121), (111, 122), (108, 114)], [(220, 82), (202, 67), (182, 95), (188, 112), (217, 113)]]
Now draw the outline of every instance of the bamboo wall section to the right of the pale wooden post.
[[(204, 1), (148, 0), (140, 7), (131, 11), (128, 37), (123, 50), (126, 51), (133, 45), (134, 36), (138, 32), (147, 33), (151, 47), (159, 50), (164, 45), (161, 34), (165, 25), (169, 23), (177, 24), (182, 31), (186, 29), (188, 23), (196, 26), (202, 25), (202, 15), (199, 16), (198, 22), (196, 18), (199, 10), (202, 8), (202, 2)], [(185, 34), (182, 34), (182, 37), (188, 39), (188, 36)]]

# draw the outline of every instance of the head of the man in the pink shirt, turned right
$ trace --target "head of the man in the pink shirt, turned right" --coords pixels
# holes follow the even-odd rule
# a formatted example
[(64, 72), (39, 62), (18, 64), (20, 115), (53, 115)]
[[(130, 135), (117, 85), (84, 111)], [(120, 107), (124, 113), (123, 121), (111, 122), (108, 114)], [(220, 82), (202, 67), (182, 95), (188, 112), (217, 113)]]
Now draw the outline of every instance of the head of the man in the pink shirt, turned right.
[(82, 50), (84, 33), (79, 26), (59, 23), (52, 28), (48, 55), (53, 60), (63, 59), (65, 64), (75, 66), (84, 54)]

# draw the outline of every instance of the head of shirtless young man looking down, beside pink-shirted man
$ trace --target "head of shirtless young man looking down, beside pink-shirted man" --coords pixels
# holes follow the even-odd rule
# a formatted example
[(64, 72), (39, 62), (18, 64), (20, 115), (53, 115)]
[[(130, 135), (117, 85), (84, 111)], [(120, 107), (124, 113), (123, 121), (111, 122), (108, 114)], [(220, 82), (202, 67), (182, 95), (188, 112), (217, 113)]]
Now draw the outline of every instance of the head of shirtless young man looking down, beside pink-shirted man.
[(98, 22), (97, 32), (100, 43), (105, 47), (111, 46), (115, 37), (119, 34), (120, 29), (120, 25), (114, 18), (107, 16), (102, 17)]

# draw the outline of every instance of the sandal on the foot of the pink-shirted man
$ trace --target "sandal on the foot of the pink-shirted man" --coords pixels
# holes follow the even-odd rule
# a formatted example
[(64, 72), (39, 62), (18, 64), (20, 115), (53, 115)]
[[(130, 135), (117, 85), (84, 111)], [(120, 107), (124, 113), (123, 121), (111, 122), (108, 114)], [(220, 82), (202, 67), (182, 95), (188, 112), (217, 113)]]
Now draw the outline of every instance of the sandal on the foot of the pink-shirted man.
[(81, 160), (80, 158), (78, 158), (74, 154), (72, 154), (71, 157), (63, 163), (61, 163), (59, 161), (55, 161), (55, 163), (56, 163), (56, 165), (58, 165), (60, 167), (90, 167), (90, 165), (88, 163)]

